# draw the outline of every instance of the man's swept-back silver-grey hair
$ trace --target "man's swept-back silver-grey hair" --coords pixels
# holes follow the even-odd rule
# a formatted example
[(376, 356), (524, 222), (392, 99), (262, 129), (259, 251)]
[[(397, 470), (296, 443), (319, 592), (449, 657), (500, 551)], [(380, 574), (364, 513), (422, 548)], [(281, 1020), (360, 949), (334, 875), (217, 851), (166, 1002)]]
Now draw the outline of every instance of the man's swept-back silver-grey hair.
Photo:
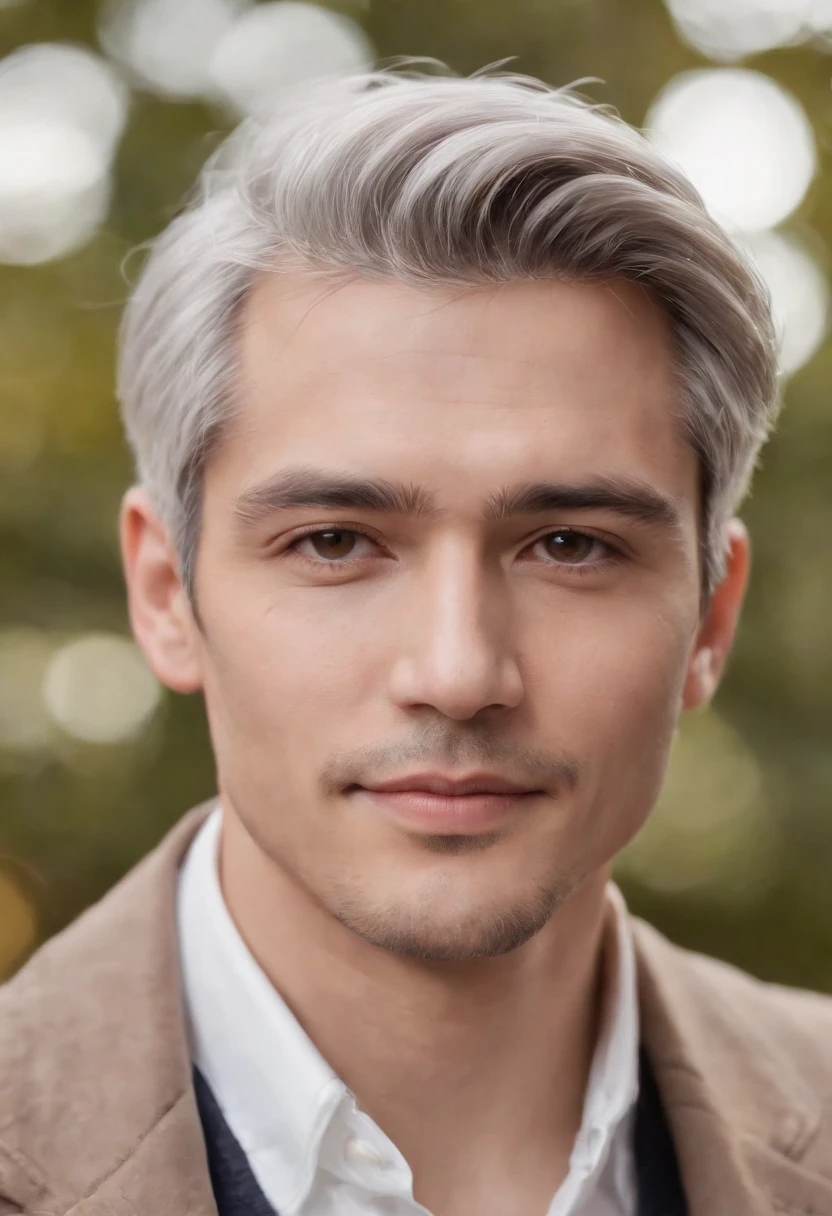
[(263, 272), (418, 287), (640, 283), (675, 336), (702, 489), (703, 590), (777, 412), (768, 293), (687, 179), (574, 89), (382, 71), (249, 118), (206, 164), (128, 302), (118, 393), (137, 478), (193, 592), (206, 462), (234, 413), (236, 323)]

